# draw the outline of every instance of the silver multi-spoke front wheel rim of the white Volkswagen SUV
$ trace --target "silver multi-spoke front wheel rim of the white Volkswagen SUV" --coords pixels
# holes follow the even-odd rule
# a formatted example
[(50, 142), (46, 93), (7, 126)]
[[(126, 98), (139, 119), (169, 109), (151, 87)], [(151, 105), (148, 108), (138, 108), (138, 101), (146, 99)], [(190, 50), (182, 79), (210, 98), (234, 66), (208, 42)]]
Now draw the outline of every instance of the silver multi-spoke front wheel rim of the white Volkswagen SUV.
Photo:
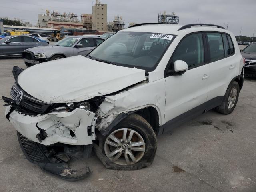
[(132, 165), (144, 156), (146, 144), (142, 136), (130, 128), (112, 132), (105, 141), (106, 156), (118, 165)]

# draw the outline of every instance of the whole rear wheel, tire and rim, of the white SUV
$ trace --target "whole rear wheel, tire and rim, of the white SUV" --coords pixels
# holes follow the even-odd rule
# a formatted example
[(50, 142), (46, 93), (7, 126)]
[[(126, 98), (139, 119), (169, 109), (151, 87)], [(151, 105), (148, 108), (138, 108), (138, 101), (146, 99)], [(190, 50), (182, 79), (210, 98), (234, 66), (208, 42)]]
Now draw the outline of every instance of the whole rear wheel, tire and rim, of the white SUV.
[(233, 81), (232, 83), (230, 83), (226, 90), (224, 100), (222, 101), (222, 104), (220, 106), (216, 107), (216, 111), (225, 115), (232, 113), (234, 108), (236, 107), (239, 92), (240, 88), (238, 82)]

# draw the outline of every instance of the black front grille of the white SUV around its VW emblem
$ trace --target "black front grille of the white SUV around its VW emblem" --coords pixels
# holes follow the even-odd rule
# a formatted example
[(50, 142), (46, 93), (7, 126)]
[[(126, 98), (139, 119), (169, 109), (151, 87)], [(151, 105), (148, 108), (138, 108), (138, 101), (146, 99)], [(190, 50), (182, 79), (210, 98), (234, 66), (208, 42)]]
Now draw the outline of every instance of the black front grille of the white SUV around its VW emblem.
[(36, 112), (37, 114), (44, 114), (51, 105), (50, 103), (40, 101), (30, 96), (24, 90), (22, 90), (22, 88), (17, 83), (14, 83), (10, 91), (10, 95), (14, 100), (16, 99), (16, 96), (20, 91), (23, 92), (23, 98), (20, 102), (20, 108), (24, 113)]

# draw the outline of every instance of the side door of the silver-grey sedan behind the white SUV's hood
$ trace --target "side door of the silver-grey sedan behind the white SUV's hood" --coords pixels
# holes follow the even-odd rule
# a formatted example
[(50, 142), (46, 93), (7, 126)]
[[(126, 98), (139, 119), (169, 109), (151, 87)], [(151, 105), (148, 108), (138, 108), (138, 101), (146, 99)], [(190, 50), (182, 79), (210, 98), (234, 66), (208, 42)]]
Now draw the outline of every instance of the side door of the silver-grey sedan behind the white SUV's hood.
[(77, 44), (82, 44), (82, 47), (74, 47), (75, 55), (85, 56), (96, 47), (94, 38), (83, 38)]

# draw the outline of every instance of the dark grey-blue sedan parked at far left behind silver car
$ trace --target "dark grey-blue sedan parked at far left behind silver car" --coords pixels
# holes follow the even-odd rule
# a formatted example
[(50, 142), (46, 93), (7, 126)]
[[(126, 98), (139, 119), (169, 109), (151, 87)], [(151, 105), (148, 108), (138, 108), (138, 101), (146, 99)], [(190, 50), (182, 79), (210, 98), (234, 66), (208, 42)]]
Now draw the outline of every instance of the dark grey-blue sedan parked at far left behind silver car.
[(38, 46), (48, 44), (33, 36), (7, 36), (0, 40), (0, 57), (22, 56), (24, 50)]

